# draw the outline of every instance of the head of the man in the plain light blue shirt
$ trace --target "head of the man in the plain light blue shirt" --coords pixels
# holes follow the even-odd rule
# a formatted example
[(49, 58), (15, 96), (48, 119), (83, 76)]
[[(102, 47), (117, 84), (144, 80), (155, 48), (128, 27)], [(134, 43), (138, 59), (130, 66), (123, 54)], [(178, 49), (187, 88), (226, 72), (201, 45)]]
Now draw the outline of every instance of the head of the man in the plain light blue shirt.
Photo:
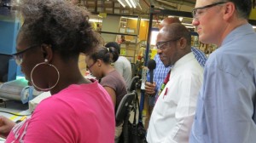
[(202, 43), (220, 46), (230, 31), (247, 23), (252, 0), (196, 0), (193, 22)]

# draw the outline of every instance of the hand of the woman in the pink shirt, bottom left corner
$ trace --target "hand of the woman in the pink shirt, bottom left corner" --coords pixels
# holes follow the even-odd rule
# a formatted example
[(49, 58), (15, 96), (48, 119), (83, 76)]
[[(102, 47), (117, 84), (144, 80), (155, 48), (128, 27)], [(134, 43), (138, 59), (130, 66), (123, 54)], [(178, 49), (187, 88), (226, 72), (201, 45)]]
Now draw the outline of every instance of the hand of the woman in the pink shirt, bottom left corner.
[(7, 117), (0, 116), (0, 135), (1, 135), (1, 137), (6, 138), (14, 126), (15, 126), (15, 122), (13, 122), (12, 120), (10, 120)]

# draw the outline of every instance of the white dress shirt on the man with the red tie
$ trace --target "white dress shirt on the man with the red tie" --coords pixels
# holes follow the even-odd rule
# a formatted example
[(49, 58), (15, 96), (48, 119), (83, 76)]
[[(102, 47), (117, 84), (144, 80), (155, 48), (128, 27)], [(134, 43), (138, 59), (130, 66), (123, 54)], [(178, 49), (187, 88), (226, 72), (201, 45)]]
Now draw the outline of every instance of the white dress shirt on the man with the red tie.
[(148, 127), (148, 143), (189, 142), (202, 78), (203, 69), (192, 52), (177, 60), (170, 80), (154, 106)]

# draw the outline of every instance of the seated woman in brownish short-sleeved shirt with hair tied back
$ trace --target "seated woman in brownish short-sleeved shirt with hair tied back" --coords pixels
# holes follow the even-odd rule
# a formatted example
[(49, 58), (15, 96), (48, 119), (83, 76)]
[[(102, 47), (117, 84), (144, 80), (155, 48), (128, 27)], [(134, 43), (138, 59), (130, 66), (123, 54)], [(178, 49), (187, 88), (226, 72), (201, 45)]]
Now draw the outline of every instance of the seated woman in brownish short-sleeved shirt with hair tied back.
[[(127, 94), (125, 79), (111, 66), (111, 63), (118, 58), (119, 53), (113, 47), (100, 47), (85, 58), (87, 70), (100, 81), (111, 96), (115, 112), (120, 101)], [(122, 132), (122, 124), (116, 121), (115, 140), (118, 140)]]

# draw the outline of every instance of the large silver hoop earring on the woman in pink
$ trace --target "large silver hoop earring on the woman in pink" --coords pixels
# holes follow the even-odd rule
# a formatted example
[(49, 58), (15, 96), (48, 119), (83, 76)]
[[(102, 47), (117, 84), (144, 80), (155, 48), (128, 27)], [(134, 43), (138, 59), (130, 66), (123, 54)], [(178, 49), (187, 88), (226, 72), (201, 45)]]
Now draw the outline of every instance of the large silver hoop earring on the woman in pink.
[[(58, 79), (57, 79), (55, 85), (52, 86), (52, 87), (50, 87), (49, 89), (42, 89), (42, 88), (39, 88), (39, 87), (34, 83), (34, 81), (33, 81), (32, 74), (33, 74), (34, 70), (35, 70), (38, 66), (41, 66), (41, 65), (47, 65), (47, 66), (54, 67), (54, 68), (55, 68), (55, 71), (56, 71), (57, 74), (58, 74)], [(49, 64), (49, 63), (47, 63), (47, 62), (42, 62), (42, 63), (39, 63), (38, 65), (36, 65), (36, 66), (34, 66), (34, 67), (32, 68), (32, 72), (31, 72), (31, 74), (30, 74), (30, 78), (31, 78), (32, 85), (33, 85), (35, 88), (40, 89), (40, 90), (42, 90), (42, 91), (49, 91), (50, 89), (54, 89), (55, 86), (57, 85), (57, 83), (59, 83), (59, 80), (60, 80), (60, 72), (58, 71), (58, 69), (57, 69), (54, 65), (51, 65), (51, 64)]]

